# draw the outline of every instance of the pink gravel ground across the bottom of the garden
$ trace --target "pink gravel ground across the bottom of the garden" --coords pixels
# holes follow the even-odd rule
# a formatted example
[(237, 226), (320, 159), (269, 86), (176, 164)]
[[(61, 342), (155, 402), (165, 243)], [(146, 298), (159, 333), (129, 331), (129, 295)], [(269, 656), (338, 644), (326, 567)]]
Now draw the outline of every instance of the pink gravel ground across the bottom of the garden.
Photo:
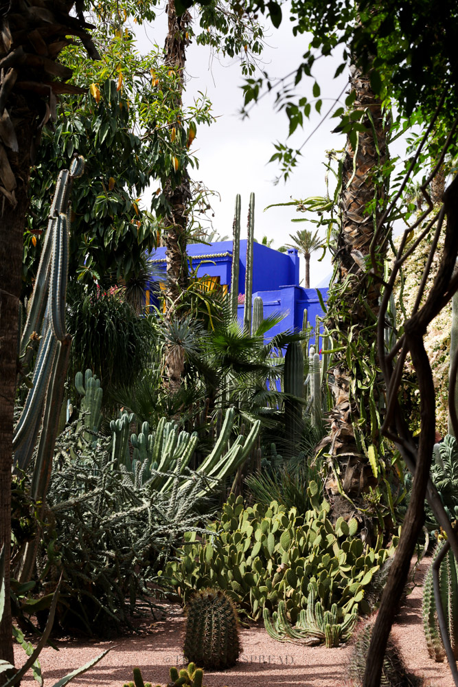
[[(428, 562), (417, 572), (417, 583), (422, 581)], [(108, 646), (113, 649), (102, 661), (71, 684), (74, 687), (122, 687), (132, 679), (132, 668), (139, 666), (145, 680), (155, 684), (168, 682), (170, 666), (183, 665), (184, 619), (179, 607), (170, 607), (168, 616), (154, 622), (150, 633), (130, 636), (113, 642), (58, 642), (60, 651), (45, 649), (41, 654), (45, 686), (50, 687), (78, 666), (98, 655)], [(346, 687), (345, 673), (352, 651), (351, 646), (325, 649), (307, 647), (290, 642), (275, 642), (261, 624), (241, 629), (243, 653), (235, 668), (222, 673), (205, 671), (207, 687)], [(447, 664), (435, 663), (428, 657), (424, 640), (421, 613), (421, 587), (417, 586), (407, 598), (400, 617), (393, 627), (407, 667), (425, 678), (425, 687), (453, 687)], [(113, 645), (114, 644), (114, 645)], [(23, 661), (21, 649), (17, 652), (18, 664)], [(32, 676), (23, 679), (32, 685)]]

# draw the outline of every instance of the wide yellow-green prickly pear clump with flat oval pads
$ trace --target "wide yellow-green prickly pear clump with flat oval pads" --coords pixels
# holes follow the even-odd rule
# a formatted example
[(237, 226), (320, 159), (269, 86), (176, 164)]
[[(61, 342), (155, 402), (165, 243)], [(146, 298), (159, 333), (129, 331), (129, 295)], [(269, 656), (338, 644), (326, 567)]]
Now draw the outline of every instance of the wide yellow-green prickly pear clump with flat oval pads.
[[(354, 606), (369, 611), (365, 587), (392, 552), (356, 537), (356, 519), (335, 526), (327, 518), (329, 504), (319, 504), (315, 482), (308, 486), (313, 510), (298, 515), (295, 508), (255, 504), (244, 508), (242, 497), (231, 495), (213, 534), (196, 541), (188, 534), (181, 560), (171, 562), (165, 576), (186, 601), (196, 589), (218, 586), (252, 618), (260, 618), (284, 600), (291, 622), (306, 607), (310, 583), (317, 584), (325, 609), (336, 603), (344, 613)], [(219, 535), (219, 536), (218, 536)], [(393, 539), (396, 545), (397, 538)]]

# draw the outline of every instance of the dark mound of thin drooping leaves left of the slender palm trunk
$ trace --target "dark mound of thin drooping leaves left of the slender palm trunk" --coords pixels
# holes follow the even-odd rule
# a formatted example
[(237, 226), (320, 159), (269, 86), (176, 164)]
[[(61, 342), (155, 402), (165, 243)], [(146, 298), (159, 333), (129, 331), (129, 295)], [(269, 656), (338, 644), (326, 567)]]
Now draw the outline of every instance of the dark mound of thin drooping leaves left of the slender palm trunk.
[(89, 366), (111, 396), (126, 384), (135, 386), (150, 359), (154, 332), (136, 315), (119, 291), (69, 288), (67, 327), (73, 337), (69, 376)]

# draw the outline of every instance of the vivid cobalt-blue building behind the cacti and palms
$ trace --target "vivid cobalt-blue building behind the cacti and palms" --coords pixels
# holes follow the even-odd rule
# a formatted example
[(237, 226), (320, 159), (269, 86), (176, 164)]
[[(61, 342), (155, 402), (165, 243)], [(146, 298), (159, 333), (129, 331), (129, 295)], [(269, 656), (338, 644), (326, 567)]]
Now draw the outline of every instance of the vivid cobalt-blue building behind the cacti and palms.
[[(220, 241), (206, 245), (191, 243), (187, 254), (192, 261), (192, 269), (203, 280), (208, 279), (230, 291), (232, 241)], [(158, 248), (150, 260), (165, 273), (165, 248)], [(247, 239), (240, 240), (239, 286), (240, 294), (245, 290), (247, 267)], [(328, 289), (318, 289), (323, 301)], [(269, 331), (269, 338), (286, 329), (301, 329), (304, 310), (307, 308), (308, 322), (314, 325), (317, 315), (323, 315), (317, 289), (304, 289), (299, 286), (299, 256), (296, 249), (279, 253), (262, 243), (253, 245), (253, 298), (260, 296), (264, 304), (264, 317), (282, 313), (284, 319)], [(146, 291), (146, 306), (150, 305), (150, 289)], [(244, 305), (238, 306), (238, 320), (243, 321)]]

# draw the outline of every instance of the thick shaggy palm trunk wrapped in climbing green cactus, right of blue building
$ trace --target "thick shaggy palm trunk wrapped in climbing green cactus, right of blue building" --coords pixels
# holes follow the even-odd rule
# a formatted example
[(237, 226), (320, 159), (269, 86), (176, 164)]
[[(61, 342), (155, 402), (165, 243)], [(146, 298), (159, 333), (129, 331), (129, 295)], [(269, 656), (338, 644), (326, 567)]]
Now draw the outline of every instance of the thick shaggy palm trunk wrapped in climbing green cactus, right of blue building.
[[(376, 198), (380, 207), (385, 196), (382, 183), (374, 177), (387, 160), (387, 143), (382, 121), (381, 103), (371, 90), (369, 77), (352, 67), (350, 78), (352, 91), (356, 93), (354, 109), (360, 110), (365, 131), (358, 133), (358, 146), (352, 149), (350, 141), (345, 147), (341, 191), (341, 230), (337, 243), (337, 278), (335, 289), (339, 290), (339, 308), (334, 311), (334, 322), (330, 328), (343, 333), (345, 346), (347, 334), (352, 330), (352, 340), (364, 330), (365, 343), (375, 341), (376, 327), (367, 316), (369, 308), (378, 314), (380, 287), (367, 277), (371, 267), (369, 247), (374, 238), (374, 214), (367, 214), (365, 208)], [(370, 115), (369, 115), (370, 113)], [(377, 211), (376, 211), (377, 212)], [(380, 251), (378, 257), (380, 260)], [(367, 258), (367, 259), (366, 259)], [(367, 264), (368, 263), (368, 264)], [(345, 289), (342, 285), (345, 283)], [(373, 324), (374, 326), (371, 326)], [(341, 487), (354, 502), (362, 502), (361, 495), (367, 491), (373, 477), (369, 461), (361, 452), (354, 436), (353, 422), (358, 420), (358, 407), (350, 394), (356, 365), (349, 368), (345, 353), (337, 354), (334, 370), (334, 408), (331, 412), (331, 455), (330, 471), (326, 488), (332, 502), (334, 515), (345, 515), (352, 505), (339, 492), (331, 462), (340, 473)], [(362, 428), (362, 431), (365, 431)]]

